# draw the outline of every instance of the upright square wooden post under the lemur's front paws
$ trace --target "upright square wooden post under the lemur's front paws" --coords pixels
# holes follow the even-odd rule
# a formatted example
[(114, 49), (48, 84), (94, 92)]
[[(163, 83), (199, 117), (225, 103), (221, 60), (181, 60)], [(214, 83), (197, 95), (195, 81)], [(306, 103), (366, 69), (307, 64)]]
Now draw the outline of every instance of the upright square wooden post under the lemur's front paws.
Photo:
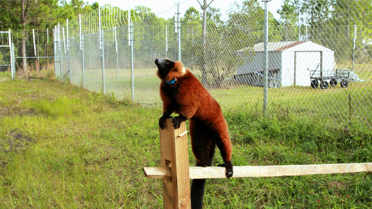
[[(159, 128), (161, 166), (171, 167), (171, 179), (163, 179), (164, 209), (190, 209), (189, 151), (186, 124), (174, 129), (172, 120)], [(183, 135), (182, 135), (183, 134)], [(179, 136), (181, 135), (181, 136)]]

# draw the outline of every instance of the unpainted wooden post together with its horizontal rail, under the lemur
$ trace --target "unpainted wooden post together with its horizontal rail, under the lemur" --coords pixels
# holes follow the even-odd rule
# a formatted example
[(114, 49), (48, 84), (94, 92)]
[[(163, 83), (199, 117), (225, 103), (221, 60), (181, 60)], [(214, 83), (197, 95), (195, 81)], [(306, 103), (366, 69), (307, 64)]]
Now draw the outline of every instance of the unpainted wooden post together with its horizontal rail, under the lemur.
[[(189, 167), (185, 122), (174, 130), (170, 119), (159, 128), (161, 167), (142, 168), (145, 177), (162, 179), (164, 209), (190, 209), (190, 179), (226, 178), (224, 167)], [(232, 177), (302, 176), (372, 172), (372, 163), (288, 166), (234, 166)]]

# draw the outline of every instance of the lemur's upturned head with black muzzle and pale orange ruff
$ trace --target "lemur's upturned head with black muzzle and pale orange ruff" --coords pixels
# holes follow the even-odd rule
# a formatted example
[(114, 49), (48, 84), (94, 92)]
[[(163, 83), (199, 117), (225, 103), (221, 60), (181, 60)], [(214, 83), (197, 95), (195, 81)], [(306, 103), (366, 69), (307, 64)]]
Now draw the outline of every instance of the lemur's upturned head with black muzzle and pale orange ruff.
[(158, 67), (158, 77), (168, 84), (174, 84), (179, 77), (186, 73), (181, 61), (172, 62), (169, 59), (155, 59), (155, 65)]

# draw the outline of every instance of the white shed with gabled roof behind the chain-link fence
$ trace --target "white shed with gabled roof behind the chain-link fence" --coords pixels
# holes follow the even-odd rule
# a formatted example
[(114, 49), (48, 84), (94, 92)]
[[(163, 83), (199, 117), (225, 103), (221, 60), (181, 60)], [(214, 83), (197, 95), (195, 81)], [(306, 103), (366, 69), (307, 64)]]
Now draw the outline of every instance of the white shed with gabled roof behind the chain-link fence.
[[(262, 86), (263, 43), (252, 48), (238, 50), (247, 52), (247, 61), (237, 68), (235, 79), (250, 85)], [(334, 50), (312, 41), (269, 42), (268, 85), (285, 87), (291, 85), (310, 86), (310, 70), (334, 69)]]

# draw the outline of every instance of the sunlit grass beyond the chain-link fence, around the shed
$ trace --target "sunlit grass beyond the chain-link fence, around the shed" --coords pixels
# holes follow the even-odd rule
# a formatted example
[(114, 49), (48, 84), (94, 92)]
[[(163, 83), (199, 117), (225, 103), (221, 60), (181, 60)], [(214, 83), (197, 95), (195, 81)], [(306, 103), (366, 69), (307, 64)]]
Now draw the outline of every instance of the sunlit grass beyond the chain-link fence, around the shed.
[[(343, 64), (339, 68), (351, 68)], [(365, 82), (350, 82), (348, 88), (340, 85), (328, 89), (310, 86), (289, 86), (268, 89), (268, 114), (298, 114), (299, 117), (316, 117), (331, 124), (349, 125), (352, 121), (372, 125), (372, 67), (356, 63), (356, 73)], [(85, 86), (92, 91), (103, 91), (102, 70), (86, 69)], [(118, 77), (117, 77), (118, 75)], [(82, 71), (75, 71), (71, 82), (83, 86)], [(67, 78), (68, 79), (68, 78)], [(310, 81), (310, 80), (309, 80)], [(142, 104), (160, 105), (160, 79), (155, 69), (134, 69), (134, 101)], [(119, 99), (132, 97), (130, 69), (105, 68), (105, 90)], [(225, 109), (250, 108), (263, 111), (263, 88), (249, 85), (231, 85), (227, 89), (209, 90)], [(280, 112), (278, 112), (280, 110)]]

